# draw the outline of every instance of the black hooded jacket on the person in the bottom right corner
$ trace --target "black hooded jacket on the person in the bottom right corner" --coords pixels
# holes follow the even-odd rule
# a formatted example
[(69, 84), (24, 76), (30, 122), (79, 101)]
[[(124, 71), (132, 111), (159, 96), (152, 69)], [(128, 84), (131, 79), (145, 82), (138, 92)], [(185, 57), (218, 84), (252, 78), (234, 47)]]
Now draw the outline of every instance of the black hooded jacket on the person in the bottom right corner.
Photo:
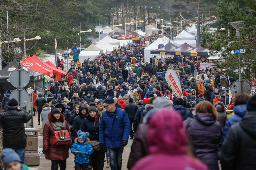
[(249, 111), (233, 125), (219, 154), (222, 170), (256, 169), (256, 112)]

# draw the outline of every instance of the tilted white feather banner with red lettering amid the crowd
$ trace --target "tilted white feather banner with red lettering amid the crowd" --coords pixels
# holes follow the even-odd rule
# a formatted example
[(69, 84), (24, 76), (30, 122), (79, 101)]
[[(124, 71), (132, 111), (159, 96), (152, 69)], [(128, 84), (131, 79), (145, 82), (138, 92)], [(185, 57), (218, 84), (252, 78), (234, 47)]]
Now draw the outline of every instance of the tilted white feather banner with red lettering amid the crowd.
[(170, 86), (172, 93), (176, 97), (183, 98), (183, 94), (182, 94), (182, 90), (181, 90), (181, 83), (179, 82), (179, 77), (175, 73), (175, 71), (172, 69), (168, 69), (167, 72), (165, 73), (164, 78), (166, 79), (168, 85)]

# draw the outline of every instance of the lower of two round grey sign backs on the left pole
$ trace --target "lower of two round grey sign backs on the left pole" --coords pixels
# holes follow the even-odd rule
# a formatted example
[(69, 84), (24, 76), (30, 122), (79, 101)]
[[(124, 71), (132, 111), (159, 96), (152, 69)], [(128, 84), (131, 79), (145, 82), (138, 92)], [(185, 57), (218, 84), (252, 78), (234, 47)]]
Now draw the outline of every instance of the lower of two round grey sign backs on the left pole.
[(19, 102), (19, 91), (20, 91), (20, 107), (24, 108), (29, 100), (29, 94), (25, 89), (15, 89), (12, 90), (12, 93), (10, 94), (10, 100), (12, 98), (15, 98)]

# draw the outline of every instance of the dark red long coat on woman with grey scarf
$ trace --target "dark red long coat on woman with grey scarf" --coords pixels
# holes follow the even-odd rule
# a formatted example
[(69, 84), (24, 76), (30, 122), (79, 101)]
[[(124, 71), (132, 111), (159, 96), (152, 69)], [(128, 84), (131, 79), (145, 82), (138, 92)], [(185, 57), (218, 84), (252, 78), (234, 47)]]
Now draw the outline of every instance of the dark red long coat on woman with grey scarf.
[[(56, 121), (56, 118), (53, 117), (51, 112), (48, 114), (48, 119), (44, 124), (43, 128), (43, 151), (45, 153), (45, 158), (49, 160), (65, 160), (69, 157), (69, 147), (72, 146), (72, 141), (70, 141), (69, 144), (66, 145), (54, 145), (53, 144), (53, 125), (51, 125), (51, 122)], [(65, 117), (63, 114), (61, 114), (61, 121), (65, 121)], [(63, 128), (62, 130), (68, 130), (69, 131), (69, 125), (67, 125), (67, 121), (65, 121), (66, 128)], [(70, 135), (71, 136), (71, 135)]]

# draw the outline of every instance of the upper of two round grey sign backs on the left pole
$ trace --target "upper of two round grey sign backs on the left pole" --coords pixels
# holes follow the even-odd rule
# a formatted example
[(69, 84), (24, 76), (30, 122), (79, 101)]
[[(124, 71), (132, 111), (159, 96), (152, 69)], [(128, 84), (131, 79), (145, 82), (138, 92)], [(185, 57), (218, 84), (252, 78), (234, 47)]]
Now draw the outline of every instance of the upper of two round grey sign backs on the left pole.
[[(30, 76), (24, 69), (20, 69), (20, 88), (24, 88), (28, 85)], [(13, 70), (10, 75), (10, 82), (15, 88), (19, 88), (19, 70)]]

